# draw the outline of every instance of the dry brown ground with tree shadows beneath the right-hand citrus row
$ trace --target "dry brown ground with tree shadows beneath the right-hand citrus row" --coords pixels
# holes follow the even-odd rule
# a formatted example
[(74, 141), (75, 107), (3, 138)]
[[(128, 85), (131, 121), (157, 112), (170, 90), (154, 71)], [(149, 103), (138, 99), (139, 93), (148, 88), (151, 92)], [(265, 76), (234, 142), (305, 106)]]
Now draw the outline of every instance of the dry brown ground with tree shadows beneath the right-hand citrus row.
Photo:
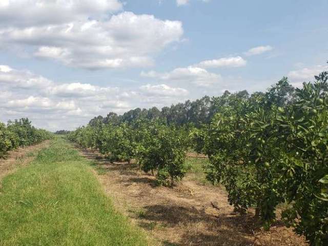
[(155, 177), (133, 164), (110, 163), (96, 152), (79, 150), (96, 161), (101, 172), (95, 173), (116, 208), (156, 238), (156, 245), (308, 245), (280, 221), (263, 231), (252, 214), (233, 211), (223, 188), (202, 185), (195, 174), (174, 188), (156, 187)]

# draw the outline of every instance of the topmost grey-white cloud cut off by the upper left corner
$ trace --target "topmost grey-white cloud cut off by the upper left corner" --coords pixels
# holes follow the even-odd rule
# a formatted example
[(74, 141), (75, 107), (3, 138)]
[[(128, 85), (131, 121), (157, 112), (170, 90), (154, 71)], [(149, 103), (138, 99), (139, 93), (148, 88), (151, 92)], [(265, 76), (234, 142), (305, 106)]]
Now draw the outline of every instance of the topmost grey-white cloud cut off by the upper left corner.
[(44, 26), (106, 18), (122, 9), (117, 0), (1, 0), (0, 26)]

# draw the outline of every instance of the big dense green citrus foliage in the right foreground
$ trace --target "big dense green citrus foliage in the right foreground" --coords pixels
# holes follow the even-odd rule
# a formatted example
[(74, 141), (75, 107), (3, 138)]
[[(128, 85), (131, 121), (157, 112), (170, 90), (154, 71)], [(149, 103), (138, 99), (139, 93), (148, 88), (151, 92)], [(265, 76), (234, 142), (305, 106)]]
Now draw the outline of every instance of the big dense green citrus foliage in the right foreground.
[(311, 245), (328, 243), (328, 96), (320, 78), (293, 97), (277, 93), (290, 88), (285, 79), (264, 96), (229, 96), (206, 143), (208, 178), (223, 183), (231, 204), (256, 208), (268, 229), (277, 205), (288, 202), (284, 221)]

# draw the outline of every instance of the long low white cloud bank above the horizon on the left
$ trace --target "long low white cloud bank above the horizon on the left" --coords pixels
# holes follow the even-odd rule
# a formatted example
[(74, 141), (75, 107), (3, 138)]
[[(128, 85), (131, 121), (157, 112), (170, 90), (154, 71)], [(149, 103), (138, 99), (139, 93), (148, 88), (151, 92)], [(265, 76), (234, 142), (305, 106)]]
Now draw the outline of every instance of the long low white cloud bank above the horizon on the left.
[[(38, 127), (74, 129), (109, 111), (124, 113), (137, 106), (163, 107), (186, 99), (186, 89), (165, 84), (136, 90), (64, 83), (28, 70), (0, 65), (0, 120), (29, 117)], [(137, 105), (137, 106), (136, 106)]]

